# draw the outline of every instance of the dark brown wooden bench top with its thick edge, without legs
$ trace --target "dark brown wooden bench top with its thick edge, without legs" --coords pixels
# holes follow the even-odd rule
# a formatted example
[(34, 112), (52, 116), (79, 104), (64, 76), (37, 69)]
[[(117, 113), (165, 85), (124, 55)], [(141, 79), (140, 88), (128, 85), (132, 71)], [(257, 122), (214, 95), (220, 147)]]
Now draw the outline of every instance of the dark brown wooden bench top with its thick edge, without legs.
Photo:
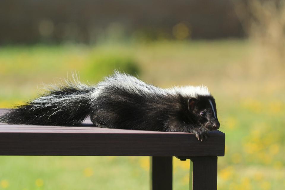
[(99, 128), (89, 118), (80, 126), (0, 123), (0, 155), (224, 156), (224, 145), (220, 131), (200, 142), (191, 133)]

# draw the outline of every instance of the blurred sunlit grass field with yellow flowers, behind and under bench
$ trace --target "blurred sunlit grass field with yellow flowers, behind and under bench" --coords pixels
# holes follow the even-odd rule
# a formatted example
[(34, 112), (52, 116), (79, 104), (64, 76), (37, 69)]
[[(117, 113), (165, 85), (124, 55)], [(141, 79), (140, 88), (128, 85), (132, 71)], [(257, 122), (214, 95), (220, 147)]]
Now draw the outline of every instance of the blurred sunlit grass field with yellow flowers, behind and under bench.
[[(284, 65), (264, 61), (259, 48), (242, 40), (0, 47), (0, 107), (75, 71), (91, 84), (113, 69), (161, 87), (204, 84), (226, 133), (218, 189), (284, 189)], [(148, 157), (0, 156), (0, 163), (0, 189), (149, 188)], [(175, 190), (188, 189), (188, 168), (174, 158)]]

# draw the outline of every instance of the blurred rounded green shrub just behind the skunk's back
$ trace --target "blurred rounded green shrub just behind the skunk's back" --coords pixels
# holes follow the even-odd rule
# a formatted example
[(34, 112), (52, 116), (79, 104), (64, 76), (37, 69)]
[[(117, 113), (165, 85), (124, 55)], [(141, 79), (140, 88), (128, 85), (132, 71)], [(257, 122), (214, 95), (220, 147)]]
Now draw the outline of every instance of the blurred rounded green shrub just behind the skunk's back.
[(137, 61), (131, 55), (110, 52), (92, 54), (81, 73), (83, 73), (85, 79), (96, 82), (105, 76), (112, 75), (115, 70), (135, 77), (140, 73)]

